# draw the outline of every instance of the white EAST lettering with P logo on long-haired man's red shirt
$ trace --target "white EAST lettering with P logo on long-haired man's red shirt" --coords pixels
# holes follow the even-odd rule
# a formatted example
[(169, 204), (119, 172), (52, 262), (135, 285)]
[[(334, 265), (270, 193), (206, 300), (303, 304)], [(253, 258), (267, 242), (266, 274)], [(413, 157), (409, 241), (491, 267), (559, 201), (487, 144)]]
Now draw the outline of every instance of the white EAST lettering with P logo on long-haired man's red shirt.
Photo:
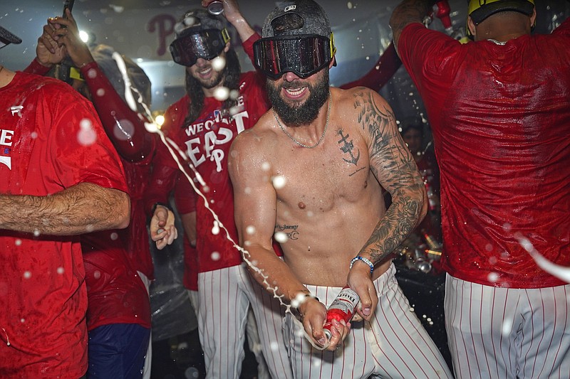
[[(238, 99), (238, 105), (243, 105), (242, 97)], [(215, 110), (213, 116), (212, 119), (195, 122), (186, 128), (188, 137), (195, 136), (195, 138), (187, 140), (186, 154), (195, 167), (209, 159), (216, 162), (216, 171), (221, 172), (225, 152), (223, 149), (217, 149), (216, 146), (231, 144), (235, 137), (234, 130), (231, 127), (232, 122), (235, 123), (235, 130), (239, 134), (244, 131), (244, 119), (248, 119), (249, 114), (247, 111), (242, 111), (230, 118), (222, 116), (222, 112)], [(204, 131), (206, 132), (204, 133)], [(200, 146), (202, 146), (203, 152), (200, 151)]]

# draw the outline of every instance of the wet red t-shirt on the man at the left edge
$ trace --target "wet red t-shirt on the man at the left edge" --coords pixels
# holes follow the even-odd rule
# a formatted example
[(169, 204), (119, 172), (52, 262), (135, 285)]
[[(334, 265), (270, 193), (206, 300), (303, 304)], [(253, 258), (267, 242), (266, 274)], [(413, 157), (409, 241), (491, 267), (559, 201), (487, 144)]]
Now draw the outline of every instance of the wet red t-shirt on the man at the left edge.
[[(0, 193), (46, 196), (76, 183), (127, 192), (93, 105), (58, 80), (16, 73), (0, 88)], [(79, 378), (87, 309), (79, 236), (0, 233), (0, 376)]]

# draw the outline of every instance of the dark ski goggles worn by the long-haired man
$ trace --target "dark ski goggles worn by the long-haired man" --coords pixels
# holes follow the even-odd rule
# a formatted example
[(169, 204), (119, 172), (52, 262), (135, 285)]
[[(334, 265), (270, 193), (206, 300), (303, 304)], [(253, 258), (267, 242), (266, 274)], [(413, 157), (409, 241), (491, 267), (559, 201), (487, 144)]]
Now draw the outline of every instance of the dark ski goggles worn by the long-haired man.
[(179, 65), (195, 65), (198, 58), (210, 60), (216, 58), (229, 41), (229, 33), (226, 28), (202, 29), (193, 31), (189, 28), (182, 31), (180, 36), (170, 43), (172, 60)]

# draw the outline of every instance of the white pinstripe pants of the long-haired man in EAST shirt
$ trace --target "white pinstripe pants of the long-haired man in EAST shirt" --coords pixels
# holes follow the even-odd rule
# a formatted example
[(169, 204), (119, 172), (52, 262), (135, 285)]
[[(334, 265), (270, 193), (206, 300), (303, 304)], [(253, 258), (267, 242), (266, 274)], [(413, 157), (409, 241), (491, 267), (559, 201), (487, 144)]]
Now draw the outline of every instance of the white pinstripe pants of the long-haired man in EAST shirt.
[(283, 338), (285, 308), (254, 281), (244, 264), (200, 272), (198, 295), (198, 331), (206, 378), (239, 378), (250, 304), (271, 377), (293, 378)]

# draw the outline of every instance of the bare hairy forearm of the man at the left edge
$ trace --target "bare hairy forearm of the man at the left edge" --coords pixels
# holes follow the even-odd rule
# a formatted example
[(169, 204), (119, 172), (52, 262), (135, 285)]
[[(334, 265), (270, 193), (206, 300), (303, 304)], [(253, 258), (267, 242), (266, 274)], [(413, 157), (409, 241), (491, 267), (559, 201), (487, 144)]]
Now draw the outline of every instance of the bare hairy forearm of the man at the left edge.
[(130, 198), (123, 191), (93, 183), (50, 196), (0, 195), (0, 229), (40, 235), (79, 235), (126, 228)]

